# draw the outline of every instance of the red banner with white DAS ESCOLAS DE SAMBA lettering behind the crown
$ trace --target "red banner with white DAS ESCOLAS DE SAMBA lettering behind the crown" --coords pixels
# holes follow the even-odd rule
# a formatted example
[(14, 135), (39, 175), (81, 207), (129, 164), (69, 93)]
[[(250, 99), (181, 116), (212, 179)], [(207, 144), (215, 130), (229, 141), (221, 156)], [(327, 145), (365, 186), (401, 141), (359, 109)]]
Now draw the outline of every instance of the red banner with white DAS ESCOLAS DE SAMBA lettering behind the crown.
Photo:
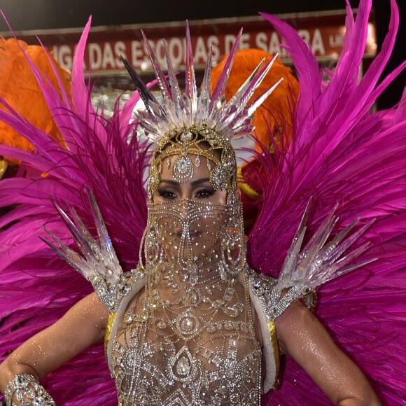
[[(306, 15), (281, 16), (294, 25), (298, 34), (307, 41), (317, 59), (334, 61), (342, 50), (344, 36), (344, 12), (313, 13)], [(216, 63), (230, 51), (232, 43), (243, 27), (239, 48), (260, 48), (271, 53), (279, 52), (283, 62), (289, 62), (283, 48), (283, 38), (261, 17), (232, 18), (221, 20), (190, 21), (194, 59), (197, 69), (203, 67), (210, 46), (213, 62)], [(176, 69), (181, 69), (185, 59), (185, 23), (169, 22), (156, 25), (132, 25), (123, 27), (94, 27), (91, 29), (85, 52), (85, 70), (92, 76), (117, 75), (125, 71), (120, 55), (127, 58), (137, 71), (151, 71), (140, 29), (144, 29), (152, 48), (162, 66), (166, 64), (164, 41)], [(62, 29), (36, 32), (41, 41), (52, 50), (59, 64), (71, 69), (75, 44), (80, 30)], [(5, 35), (3, 35), (5, 36)], [(34, 33), (17, 33), (18, 38), (27, 43), (36, 43)], [(377, 38), (373, 22), (368, 27), (365, 57), (373, 57), (377, 50)]]

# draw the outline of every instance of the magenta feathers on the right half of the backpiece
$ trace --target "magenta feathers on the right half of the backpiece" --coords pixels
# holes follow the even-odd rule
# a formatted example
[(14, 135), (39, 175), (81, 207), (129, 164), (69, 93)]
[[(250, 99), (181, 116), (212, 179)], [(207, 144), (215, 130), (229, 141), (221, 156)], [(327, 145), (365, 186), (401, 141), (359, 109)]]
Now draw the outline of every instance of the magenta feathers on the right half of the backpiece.
[[(361, 224), (374, 218), (364, 235), (372, 248), (363, 258), (377, 261), (325, 283), (316, 314), (367, 374), (382, 402), (401, 405), (406, 402), (406, 99), (387, 111), (373, 111), (373, 104), (406, 63), (377, 84), (398, 29), (398, 8), (391, 0), (381, 51), (358, 78), (370, 8), (370, 0), (361, 0), (354, 20), (347, 3), (344, 48), (328, 82), (295, 29), (261, 13), (283, 37), (300, 96), (288, 151), (272, 155), (264, 148), (257, 156), (265, 170), (248, 255), (254, 269), (277, 276), (309, 197), (309, 235), (337, 203), (337, 230), (353, 218), (360, 217)], [(286, 358), (281, 385), (264, 397), (264, 404), (329, 405), (301, 368)]]

